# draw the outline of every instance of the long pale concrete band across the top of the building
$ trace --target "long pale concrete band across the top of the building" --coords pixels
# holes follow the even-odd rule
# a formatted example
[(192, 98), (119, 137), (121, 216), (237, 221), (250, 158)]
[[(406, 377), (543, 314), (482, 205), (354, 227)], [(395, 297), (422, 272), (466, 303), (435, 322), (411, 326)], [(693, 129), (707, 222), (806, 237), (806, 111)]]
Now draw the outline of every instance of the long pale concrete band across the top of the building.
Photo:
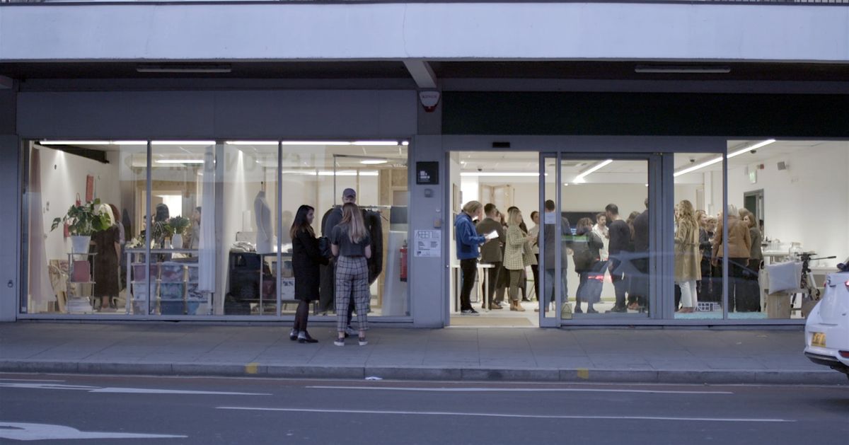
[(849, 59), (849, 9), (801, 4), (28, 5), (0, 24), (7, 61)]

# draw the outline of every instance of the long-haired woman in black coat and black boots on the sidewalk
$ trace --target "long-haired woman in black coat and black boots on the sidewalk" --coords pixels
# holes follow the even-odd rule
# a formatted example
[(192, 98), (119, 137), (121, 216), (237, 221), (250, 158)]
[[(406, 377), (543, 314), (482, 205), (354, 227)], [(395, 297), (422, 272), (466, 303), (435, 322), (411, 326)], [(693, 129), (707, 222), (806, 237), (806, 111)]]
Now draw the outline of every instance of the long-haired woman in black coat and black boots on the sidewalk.
[(295, 221), (289, 229), (292, 239), (292, 269), (295, 272), (295, 299), (298, 300), (295, 325), (292, 326), (289, 339), (299, 343), (318, 342), (306, 332), (306, 320), (309, 318), (310, 301), (318, 300), (318, 266), (328, 262), (318, 248), (318, 238), (312, 231), (314, 218), (315, 209), (311, 206), (298, 207)]

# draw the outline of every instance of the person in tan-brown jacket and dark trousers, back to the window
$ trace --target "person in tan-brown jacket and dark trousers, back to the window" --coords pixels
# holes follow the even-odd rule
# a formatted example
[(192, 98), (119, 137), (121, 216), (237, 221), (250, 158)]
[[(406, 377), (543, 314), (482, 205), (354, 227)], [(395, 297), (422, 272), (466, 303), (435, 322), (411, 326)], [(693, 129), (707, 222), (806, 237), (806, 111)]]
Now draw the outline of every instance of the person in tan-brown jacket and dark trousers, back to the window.
[[(717, 234), (713, 238), (713, 254), (711, 262), (719, 265), (722, 274), (722, 256), (728, 255), (728, 312), (734, 312), (735, 307), (745, 311), (745, 268), (751, 255), (751, 234), (749, 228), (740, 221), (737, 207), (728, 205), (725, 213), (728, 218), (728, 252), (722, 245), (722, 218), (717, 224)], [(737, 304), (739, 303), (739, 304)]]

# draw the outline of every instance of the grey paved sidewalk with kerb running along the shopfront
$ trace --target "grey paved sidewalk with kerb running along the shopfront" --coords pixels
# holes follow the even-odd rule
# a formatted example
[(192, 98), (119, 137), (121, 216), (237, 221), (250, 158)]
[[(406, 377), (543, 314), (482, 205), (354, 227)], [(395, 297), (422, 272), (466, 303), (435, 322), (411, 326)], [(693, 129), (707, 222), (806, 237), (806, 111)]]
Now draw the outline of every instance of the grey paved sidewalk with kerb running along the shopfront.
[(289, 340), (289, 325), (0, 324), (0, 371), (396, 380), (840, 384), (799, 330), (368, 331), (368, 346)]

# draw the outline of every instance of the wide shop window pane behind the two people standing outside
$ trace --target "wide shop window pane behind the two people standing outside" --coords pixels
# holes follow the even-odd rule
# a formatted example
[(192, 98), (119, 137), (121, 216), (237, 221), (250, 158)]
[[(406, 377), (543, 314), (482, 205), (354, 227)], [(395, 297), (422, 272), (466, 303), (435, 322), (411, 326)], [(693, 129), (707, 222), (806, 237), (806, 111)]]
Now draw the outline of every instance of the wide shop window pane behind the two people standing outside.
[[(366, 211), (365, 223), (372, 237), (369, 316), (410, 314), (407, 278), (402, 275), (402, 255), (406, 255), (402, 249), (406, 250), (408, 241), (407, 153), (407, 145), (402, 144), (283, 144), (283, 251), (289, 249), (287, 233), (299, 206), (312, 206), (312, 227), (317, 235), (329, 236), (331, 226), (340, 219), (342, 192), (353, 189), (356, 204)], [(321, 275), (315, 309), (329, 315), (335, 313), (332, 268), (323, 267)], [(284, 302), (291, 298), (294, 294), (283, 296)], [(284, 305), (283, 310), (294, 313), (295, 306)]]

